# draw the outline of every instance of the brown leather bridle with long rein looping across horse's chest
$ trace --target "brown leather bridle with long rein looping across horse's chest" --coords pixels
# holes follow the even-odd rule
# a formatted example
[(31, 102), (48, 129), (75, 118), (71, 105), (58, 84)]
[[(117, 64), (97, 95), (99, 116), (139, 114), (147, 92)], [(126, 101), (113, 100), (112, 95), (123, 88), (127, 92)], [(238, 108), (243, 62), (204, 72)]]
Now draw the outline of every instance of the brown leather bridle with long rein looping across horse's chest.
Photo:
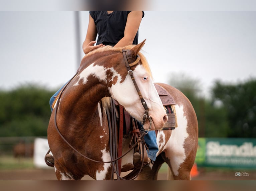
[[(143, 98), (143, 96), (141, 95), (141, 92), (140, 92), (140, 90), (139, 90), (139, 87), (138, 87), (138, 85), (137, 85), (137, 83), (136, 83), (136, 81), (135, 81), (135, 79), (134, 79), (134, 76), (133, 76), (133, 71), (131, 70), (131, 67), (132, 66), (135, 66), (135, 65), (137, 65), (138, 63), (139, 63), (139, 61), (140, 61), (140, 57), (139, 57), (139, 55), (137, 55), (137, 59), (133, 62), (133, 63), (131, 63), (131, 64), (129, 64), (129, 62), (128, 62), (128, 59), (127, 59), (127, 55), (126, 55), (126, 52), (127, 51), (129, 51), (129, 50), (122, 50), (122, 54), (123, 54), (123, 58), (124, 58), (124, 61), (125, 61), (125, 64), (126, 64), (126, 68), (127, 68), (127, 71), (128, 71), (128, 74), (131, 76), (131, 79), (132, 79), (132, 81), (133, 81), (133, 84), (134, 84), (134, 86), (135, 86), (135, 88), (136, 88), (136, 91), (137, 91), (137, 93), (138, 93), (138, 95), (139, 95), (139, 97), (140, 97), (140, 100), (141, 100), (141, 103), (142, 103), (142, 105), (143, 105), (143, 107), (144, 107), (144, 115), (143, 115), (143, 124), (145, 123), (145, 121), (146, 121), (146, 118), (149, 120), (149, 122), (150, 122), (150, 126), (149, 126), (149, 129), (148, 130), (142, 130), (142, 131), (140, 131), (141, 132), (141, 136), (140, 137), (138, 137), (138, 140), (134, 143), (134, 145), (133, 146), (131, 146), (130, 147), (130, 149), (128, 150), (128, 151), (126, 151), (123, 155), (121, 155), (120, 157), (117, 157), (117, 158), (115, 158), (114, 160), (112, 160), (112, 157), (111, 157), (111, 161), (97, 161), (97, 160), (94, 160), (94, 159), (92, 159), (92, 158), (89, 158), (89, 157), (87, 157), (87, 156), (85, 156), (84, 154), (82, 154), (81, 152), (79, 152), (76, 148), (74, 148), (68, 141), (67, 141), (67, 139), (61, 134), (61, 132), (59, 131), (59, 128), (58, 128), (58, 125), (57, 125), (57, 120), (56, 120), (56, 118), (57, 118), (57, 108), (58, 108), (58, 105), (59, 105), (59, 99), (60, 99), (60, 97), (61, 97), (61, 95), (62, 95), (62, 93), (64, 92), (64, 90), (67, 88), (67, 86), (70, 84), (70, 82), (78, 75), (78, 72), (72, 77), (72, 79), (63, 87), (63, 89), (60, 91), (60, 94), (59, 94), (59, 96), (57, 97), (57, 101), (56, 101), (56, 105), (55, 105), (55, 113), (54, 113), (54, 123), (55, 123), (55, 129), (56, 129), (56, 131), (58, 132), (58, 134), (59, 134), (59, 136), (62, 138), (62, 140), (66, 143), (66, 144), (68, 144), (74, 151), (76, 151), (78, 154), (80, 154), (81, 156), (83, 156), (84, 158), (86, 158), (86, 159), (88, 159), (88, 160), (91, 160), (91, 161), (93, 161), (93, 162), (97, 162), (97, 163), (113, 163), (113, 162), (116, 162), (117, 160), (119, 160), (119, 159), (121, 159), (122, 157), (124, 157), (126, 154), (128, 154), (132, 149), (134, 149), (138, 144), (139, 144), (139, 142), (141, 141), (141, 139), (143, 139), (144, 138), (144, 136), (149, 132), (149, 130), (151, 129), (151, 125), (152, 125), (152, 122), (151, 122), (151, 117), (148, 115), (148, 107), (147, 107), (147, 103), (146, 103), (146, 101), (144, 100), (144, 98)], [(110, 127), (109, 127), (110, 128)], [(111, 131), (111, 130), (110, 130)], [(48, 151), (49, 152), (49, 151)], [(144, 155), (144, 149), (142, 150), (142, 157), (143, 157), (143, 155)], [(114, 165), (113, 165), (114, 166)], [(138, 171), (138, 174), (136, 175), (136, 176), (133, 176), (133, 178), (132, 179), (129, 179), (129, 180), (134, 180), (135, 178), (137, 178), (137, 176), (140, 174), (140, 172), (141, 172), (141, 170), (142, 170), (142, 167), (143, 167), (143, 164), (141, 165), (141, 168), (139, 169), (139, 171)], [(114, 169), (115, 170), (115, 172), (116, 172), (116, 174), (117, 174), (117, 177), (118, 177), (118, 179), (122, 179), (122, 180), (127, 180), (127, 179), (124, 179), (124, 178), (122, 178), (122, 177), (120, 177), (120, 175), (119, 175), (119, 172), (117, 172), (116, 171), (116, 169)], [(130, 174), (132, 174), (132, 172), (130, 173)], [(128, 174), (129, 175), (129, 174)], [(126, 177), (128, 177), (128, 175), (126, 176)]]

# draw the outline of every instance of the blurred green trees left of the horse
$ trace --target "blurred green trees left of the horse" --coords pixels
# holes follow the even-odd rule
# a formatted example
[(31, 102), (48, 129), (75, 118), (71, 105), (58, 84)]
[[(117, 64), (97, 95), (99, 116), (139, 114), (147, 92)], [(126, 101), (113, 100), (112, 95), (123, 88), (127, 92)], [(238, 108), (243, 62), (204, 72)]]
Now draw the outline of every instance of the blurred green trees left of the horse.
[(46, 136), (53, 94), (36, 85), (0, 91), (0, 136)]

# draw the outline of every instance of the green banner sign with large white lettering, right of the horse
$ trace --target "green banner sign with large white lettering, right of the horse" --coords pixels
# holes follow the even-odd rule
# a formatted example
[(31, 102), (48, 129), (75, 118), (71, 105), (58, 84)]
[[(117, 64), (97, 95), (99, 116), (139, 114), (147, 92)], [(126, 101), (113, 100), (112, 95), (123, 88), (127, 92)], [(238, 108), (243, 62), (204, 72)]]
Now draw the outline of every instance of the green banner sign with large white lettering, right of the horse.
[(256, 139), (199, 138), (198, 166), (256, 168)]

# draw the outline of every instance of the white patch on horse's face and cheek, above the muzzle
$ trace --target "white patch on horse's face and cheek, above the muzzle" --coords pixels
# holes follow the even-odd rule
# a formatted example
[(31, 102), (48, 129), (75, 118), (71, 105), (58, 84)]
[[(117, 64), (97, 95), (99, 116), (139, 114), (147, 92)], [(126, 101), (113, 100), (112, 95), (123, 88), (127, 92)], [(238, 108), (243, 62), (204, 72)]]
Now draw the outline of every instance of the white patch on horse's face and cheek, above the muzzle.
[[(164, 115), (166, 113), (157, 94), (157, 91), (154, 88), (153, 81), (149, 78), (145, 68), (142, 65), (138, 65), (134, 69), (133, 75), (143, 98), (146, 100), (148, 108), (150, 110), (157, 111), (154, 119), (162, 120), (162, 114)], [(143, 77), (148, 77), (149, 80), (143, 81)], [(122, 83), (113, 84), (109, 88), (109, 93), (111, 94), (111, 97), (123, 105), (133, 117), (135, 117), (138, 121), (142, 121), (144, 107), (141, 104), (139, 95), (130, 75), (127, 74), (125, 80)], [(160, 115), (161, 117), (159, 117)]]

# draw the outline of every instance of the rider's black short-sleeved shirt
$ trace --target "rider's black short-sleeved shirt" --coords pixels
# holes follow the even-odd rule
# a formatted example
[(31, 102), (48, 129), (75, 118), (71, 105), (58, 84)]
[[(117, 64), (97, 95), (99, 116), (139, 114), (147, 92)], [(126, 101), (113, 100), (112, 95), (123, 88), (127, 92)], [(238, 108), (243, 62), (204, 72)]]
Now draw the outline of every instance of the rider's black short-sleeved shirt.
[[(124, 37), (124, 29), (128, 14), (131, 11), (113, 11), (108, 14), (107, 11), (90, 11), (90, 15), (98, 32), (97, 44), (114, 46)], [(143, 12), (143, 11), (142, 11)], [(144, 17), (144, 12), (142, 18)], [(133, 44), (138, 44), (139, 32), (133, 40)]]

